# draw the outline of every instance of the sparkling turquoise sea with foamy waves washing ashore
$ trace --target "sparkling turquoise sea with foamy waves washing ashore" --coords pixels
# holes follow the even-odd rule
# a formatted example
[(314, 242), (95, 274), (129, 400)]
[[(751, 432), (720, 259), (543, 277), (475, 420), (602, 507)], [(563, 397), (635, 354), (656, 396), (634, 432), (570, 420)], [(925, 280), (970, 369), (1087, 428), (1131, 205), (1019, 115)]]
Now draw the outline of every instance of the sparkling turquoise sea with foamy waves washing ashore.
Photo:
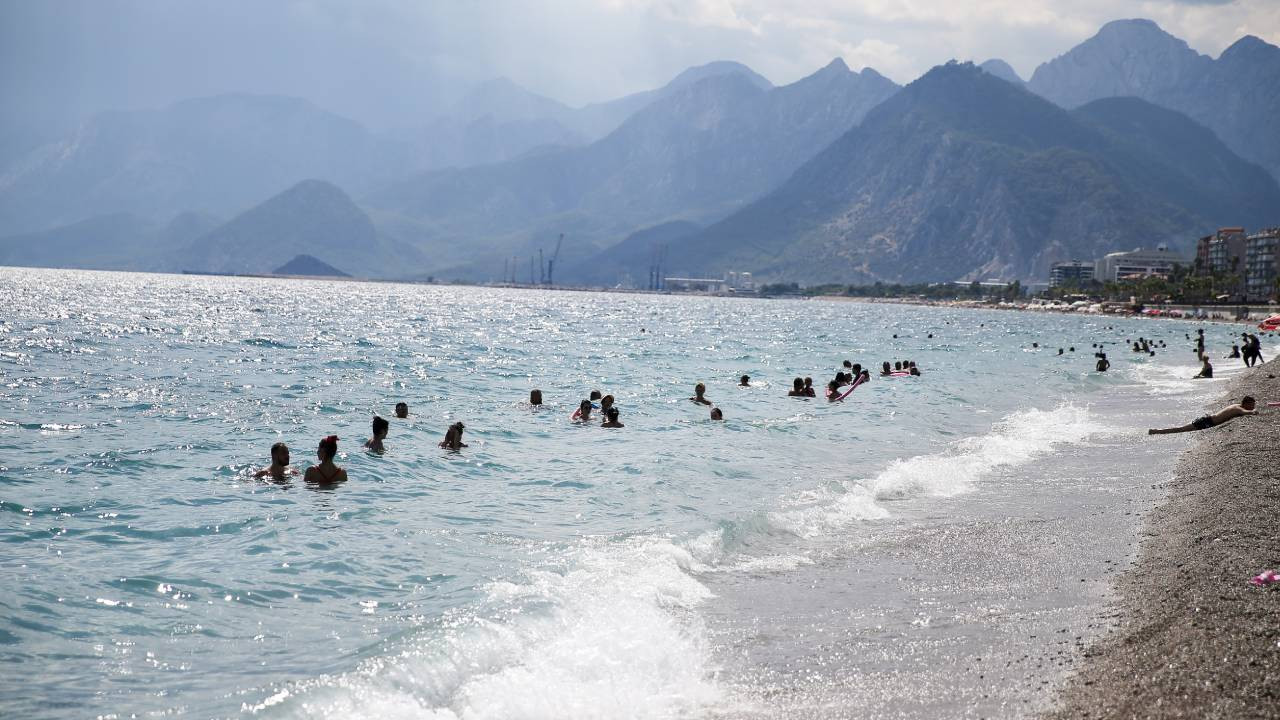
[[(0, 716), (1028, 716), (1193, 437), (1146, 429), (1242, 369), (1196, 328), (0, 268)], [(347, 483), (255, 479), (329, 434)]]

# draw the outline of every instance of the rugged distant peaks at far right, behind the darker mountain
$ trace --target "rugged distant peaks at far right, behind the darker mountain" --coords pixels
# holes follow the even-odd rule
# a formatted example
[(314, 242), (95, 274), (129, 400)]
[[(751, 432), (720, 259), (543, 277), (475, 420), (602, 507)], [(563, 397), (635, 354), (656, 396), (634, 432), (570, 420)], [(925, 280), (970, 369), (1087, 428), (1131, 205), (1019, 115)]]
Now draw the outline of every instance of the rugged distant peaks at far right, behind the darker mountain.
[(1213, 60), (1151, 20), (1116, 20), (1037, 68), (1028, 87), (1064, 108), (1134, 96), (1178, 110), (1280, 178), (1280, 47), (1257, 37)]

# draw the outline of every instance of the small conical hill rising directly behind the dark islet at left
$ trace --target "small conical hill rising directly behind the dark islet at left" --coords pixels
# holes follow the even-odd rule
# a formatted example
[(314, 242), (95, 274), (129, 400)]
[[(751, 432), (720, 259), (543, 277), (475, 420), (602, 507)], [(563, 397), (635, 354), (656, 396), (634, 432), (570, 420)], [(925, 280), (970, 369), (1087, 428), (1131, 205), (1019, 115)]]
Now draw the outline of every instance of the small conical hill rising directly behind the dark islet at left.
[(269, 273), (298, 255), (328, 258), (361, 277), (399, 277), (425, 259), (379, 237), (374, 223), (334, 184), (303, 181), (177, 249), (183, 270)]

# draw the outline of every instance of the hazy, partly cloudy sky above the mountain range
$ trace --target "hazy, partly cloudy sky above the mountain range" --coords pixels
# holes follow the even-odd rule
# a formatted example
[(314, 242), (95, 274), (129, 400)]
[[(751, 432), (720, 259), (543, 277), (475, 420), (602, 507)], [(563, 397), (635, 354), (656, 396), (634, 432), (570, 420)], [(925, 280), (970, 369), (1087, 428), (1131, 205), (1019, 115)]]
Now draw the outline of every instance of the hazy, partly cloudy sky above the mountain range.
[(577, 105), (717, 59), (776, 83), (835, 56), (902, 83), (952, 58), (1028, 77), (1129, 17), (1213, 56), (1242, 35), (1280, 45), (1280, 0), (0, 0), (0, 113), (250, 91), (387, 127), (489, 77)]

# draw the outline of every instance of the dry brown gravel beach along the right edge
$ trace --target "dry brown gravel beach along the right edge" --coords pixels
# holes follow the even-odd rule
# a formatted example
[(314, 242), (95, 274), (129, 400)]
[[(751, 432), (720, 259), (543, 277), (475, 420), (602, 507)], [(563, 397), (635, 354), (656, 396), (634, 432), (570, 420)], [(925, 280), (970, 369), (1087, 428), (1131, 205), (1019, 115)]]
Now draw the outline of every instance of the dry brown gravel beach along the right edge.
[(1213, 407), (1252, 395), (1260, 414), (1198, 433), (1119, 578), (1116, 626), (1046, 717), (1280, 717), (1280, 583), (1249, 584), (1280, 570), (1275, 375), (1258, 366)]

